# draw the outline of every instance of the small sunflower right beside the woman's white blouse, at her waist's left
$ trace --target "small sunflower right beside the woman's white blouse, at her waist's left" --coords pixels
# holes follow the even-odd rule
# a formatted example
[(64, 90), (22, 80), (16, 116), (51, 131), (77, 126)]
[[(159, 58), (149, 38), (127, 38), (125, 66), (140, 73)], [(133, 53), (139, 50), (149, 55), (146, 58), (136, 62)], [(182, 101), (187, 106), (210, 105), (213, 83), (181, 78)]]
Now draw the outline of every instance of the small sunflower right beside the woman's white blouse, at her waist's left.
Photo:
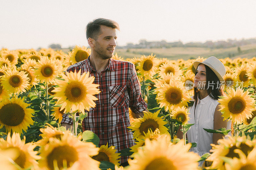
[(177, 121), (181, 122), (181, 124), (187, 124), (189, 121), (189, 115), (188, 109), (186, 109), (184, 106), (182, 107), (175, 107), (171, 112), (171, 117), (173, 119), (176, 119)]

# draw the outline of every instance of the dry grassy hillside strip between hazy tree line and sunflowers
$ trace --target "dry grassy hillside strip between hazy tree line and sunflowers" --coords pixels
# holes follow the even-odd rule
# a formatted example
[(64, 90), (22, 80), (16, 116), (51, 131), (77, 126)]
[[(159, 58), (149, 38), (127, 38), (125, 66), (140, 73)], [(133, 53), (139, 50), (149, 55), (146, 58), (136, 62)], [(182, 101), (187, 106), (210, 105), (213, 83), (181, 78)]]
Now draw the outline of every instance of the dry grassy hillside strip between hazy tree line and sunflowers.
[[(167, 58), (169, 60), (177, 59), (195, 59), (200, 57), (210, 57), (215, 56), (217, 58), (231, 59), (241, 57), (241, 58), (252, 58), (256, 56), (256, 44), (229, 47), (229, 48), (203, 48), (203, 47), (172, 47), (172, 48), (129, 48), (129, 49), (116, 49), (115, 53), (118, 56), (126, 58), (140, 57), (141, 55), (156, 54), (157, 58)], [(114, 53), (114, 54), (115, 54)]]

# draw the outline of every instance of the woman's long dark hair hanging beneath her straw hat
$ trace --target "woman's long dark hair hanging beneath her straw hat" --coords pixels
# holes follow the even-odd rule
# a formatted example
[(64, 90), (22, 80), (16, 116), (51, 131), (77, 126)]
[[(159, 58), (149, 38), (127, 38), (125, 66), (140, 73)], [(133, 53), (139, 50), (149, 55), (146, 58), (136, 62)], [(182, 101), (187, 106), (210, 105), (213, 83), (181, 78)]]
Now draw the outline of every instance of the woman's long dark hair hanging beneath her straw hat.
[[(197, 68), (198, 68), (198, 66), (197, 66)], [(221, 85), (220, 80), (210, 67), (208, 67), (206, 65), (204, 65), (204, 66), (206, 69), (206, 86), (205, 87), (207, 88), (207, 93), (212, 99), (218, 100), (220, 98), (219, 96), (223, 96), (225, 94), (223, 89), (220, 87), (220, 85)], [(197, 68), (196, 68), (196, 71), (197, 71)], [(195, 73), (195, 75), (196, 75), (196, 73)], [(209, 82), (211, 83), (210, 86), (208, 86)], [(200, 96), (199, 89), (194, 87), (194, 101), (195, 101), (194, 102), (195, 103), (194, 112), (196, 111), (197, 95)]]

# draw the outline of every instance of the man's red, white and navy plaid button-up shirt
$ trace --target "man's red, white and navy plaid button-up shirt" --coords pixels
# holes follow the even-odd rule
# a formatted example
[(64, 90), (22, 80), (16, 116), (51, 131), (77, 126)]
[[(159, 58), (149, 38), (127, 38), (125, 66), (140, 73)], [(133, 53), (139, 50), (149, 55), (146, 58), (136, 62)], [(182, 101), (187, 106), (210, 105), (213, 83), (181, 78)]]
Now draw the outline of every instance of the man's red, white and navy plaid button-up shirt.
[[(108, 67), (101, 73), (92, 67), (87, 60), (80, 61), (68, 67), (67, 71), (81, 74), (90, 72), (94, 76), (94, 84), (99, 84), (100, 93), (95, 95), (96, 107), (91, 108), (88, 116), (84, 118), (83, 130), (93, 131), (100, 138), (100, 145), (116, 146), (120, 151), (134, 145), (132, 132), (128, 132), (130, 126), (129, 107), (132, 112), (140, 113), (147, 109), (140, 92), (140, 82), (137, 78), (134, 64), (126, 61), (110, 59)], [(67, 115), (62, 116), (62, 123), (72, 124), (72, 119)], [(124, 163), (127, 156), (122, 156), (119, 161)]]

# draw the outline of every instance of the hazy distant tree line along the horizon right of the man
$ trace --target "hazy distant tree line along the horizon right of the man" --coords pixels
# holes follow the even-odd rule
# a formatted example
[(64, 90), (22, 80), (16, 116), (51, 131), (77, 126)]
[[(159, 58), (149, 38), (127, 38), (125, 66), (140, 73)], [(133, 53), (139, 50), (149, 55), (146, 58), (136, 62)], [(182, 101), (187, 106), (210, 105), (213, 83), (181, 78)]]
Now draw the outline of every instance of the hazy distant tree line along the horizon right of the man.
[(162, 41), (147, 41), (140, 39), (139, 44), (128, 43), (126, 46), (118, 46), (118, 48), (171, 48), (171, 47), (205, 47), (205, 48), (229, 48), (236, 46), (244, 46), (247, 44), (256, 44), (256, 39), (227, 39), (226, 41), (206, 41), (183, 43), (182, 41), (167, 42)]

